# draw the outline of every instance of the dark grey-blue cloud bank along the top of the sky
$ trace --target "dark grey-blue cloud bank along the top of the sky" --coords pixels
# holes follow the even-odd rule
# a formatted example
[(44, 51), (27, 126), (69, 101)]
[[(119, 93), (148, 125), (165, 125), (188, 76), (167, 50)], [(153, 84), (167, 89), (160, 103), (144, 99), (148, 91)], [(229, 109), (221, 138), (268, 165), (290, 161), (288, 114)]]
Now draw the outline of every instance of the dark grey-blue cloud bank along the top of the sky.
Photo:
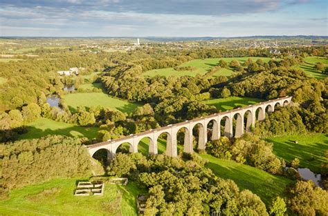
[(107, 10), (111, 12), (138, 12), (146, 14), (197, 14), (221, 16), (225, 14), (265, 12), (275, 10), (279, 0), (60, 0), (60, 1), (17, 1), (3, 0), (2, 6), (34, 8), (75, 8), (75, 10)]

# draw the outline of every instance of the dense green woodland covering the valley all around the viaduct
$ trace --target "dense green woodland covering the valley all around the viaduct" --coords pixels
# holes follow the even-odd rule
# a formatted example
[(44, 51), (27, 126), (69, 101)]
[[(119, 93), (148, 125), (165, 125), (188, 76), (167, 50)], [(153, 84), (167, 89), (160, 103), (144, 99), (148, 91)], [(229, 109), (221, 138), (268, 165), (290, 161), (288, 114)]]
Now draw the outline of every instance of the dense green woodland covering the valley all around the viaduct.
[[(197, 155), (181, 154), (179, 158), (171, 159), (163, 155), (118, 154), (109, 166), (102, 165), (106, 175), (127, 176), (147, 188), (149, 197), (145, 215), (283, 215), (286, 212), (325, 215), (328, 211), (327, 190), (300, 181), (293, 168), (297, 167), (297, 161), (280, 159), (274, 155), (271, 144), (263, 139), (307, 132), (328, 133), (328, 79), (307, 77), (294, 67), (304, 57), (325, 57), (327, 51), (326, 46), (281, 48), (280, 55), (273, 55), (268, 49), (253, 48), (179, 50), (154, 46), (127, 53), (38, 50), (42, 59), (0, 63), (0, 77), (7, 79), (0, 84), (1, 195), (6, 197), (12, 188), (56, 177), (99, 173), (102, 167), (90, 160), (83, 145), (220, 112), (214, 106), (203, 104), (205, 99), (229, 96), (275, 99), (290, 95), (293, 104), (267, 115), (264, 121), (256, 124), (252, 135), (239, 139), (221, 137), (208, 142), (206, 148), (207, 153), (215, 157), (295, 180), (295, 184), (287, 189), (286, 197), (276, 197), (269, 208), (249, 190), (239, 190), (233, 181), (215, 177), (210, 169), (203, 167), (206, 161)], [(272, 59), (268, 63), (261, 59), (248, 59), (244, 63), (222, 60), (206, 75), (195, 77), (143, 76), (147, 70), (159, 68), (194, 70), (179, 66), (192, 59), (217, 57)], [(92, 77), (92, 81), (101, 83), (109, 95), (138, 101), (143, 106), (130, 114), (101, 107), (79, 107), (73, 112), (64, 101), (62, 110), (51, 108), (46, 103), (47, 95), (62, 96), (67, 94), (63, 91), (64, 85), (73, 84), (78, 88), (82, 84), (83, 80), (78, 76), (72, 79), (57, 75), (57, 70), (72, 66), (85, 68), (81, 75), (100, 72)], [(233, 68), (232, 76), (212, 76), (228, 66)], [(325, 72), (325, 68), (316, 67)], [(79, 126), (96, 126), (101, 130), (96, 140), (89, 141), (60, 136), (15, 141), (19, 134), (26, 132), (26, 124), (39, 117)], [(327, 164), (322, 164), (323, 177), (328, 175)], [(327, 189), (327, 181), (324, 180), (322, 185)]]

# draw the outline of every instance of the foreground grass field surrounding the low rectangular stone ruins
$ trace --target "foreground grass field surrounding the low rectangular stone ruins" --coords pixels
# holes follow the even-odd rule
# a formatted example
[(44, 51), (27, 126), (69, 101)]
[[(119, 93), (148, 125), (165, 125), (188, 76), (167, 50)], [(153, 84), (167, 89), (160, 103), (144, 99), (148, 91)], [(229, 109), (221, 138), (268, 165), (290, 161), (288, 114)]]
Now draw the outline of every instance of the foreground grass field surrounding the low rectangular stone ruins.
[[(143, 190), (136, 183), (106, 184), (103, 196), (74, 197), (78, 180), (55, 179), (14, 189), (9, 199), (0, 202), (0, 215), (137, 215), (136, 195)], [(122, 197), (118, 198), (120, 206), (113, 206), (118, 209), (113, 212), (107, 206), (117, 197)]]

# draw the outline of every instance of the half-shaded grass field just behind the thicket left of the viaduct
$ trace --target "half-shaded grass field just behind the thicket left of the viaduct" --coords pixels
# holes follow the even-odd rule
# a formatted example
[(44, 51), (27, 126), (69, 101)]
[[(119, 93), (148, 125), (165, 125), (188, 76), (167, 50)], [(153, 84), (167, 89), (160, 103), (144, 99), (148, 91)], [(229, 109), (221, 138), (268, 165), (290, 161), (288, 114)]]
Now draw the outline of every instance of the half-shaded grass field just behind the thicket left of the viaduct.
[(65, 135), (93, 139), (97, 136), (98, 130), (100, 130), (100, 128), (81, 127), (44, 118), (28, 124), (27, 128), (28, 132), (19, 135), (19, 139), (35, 139), (46, 135)]

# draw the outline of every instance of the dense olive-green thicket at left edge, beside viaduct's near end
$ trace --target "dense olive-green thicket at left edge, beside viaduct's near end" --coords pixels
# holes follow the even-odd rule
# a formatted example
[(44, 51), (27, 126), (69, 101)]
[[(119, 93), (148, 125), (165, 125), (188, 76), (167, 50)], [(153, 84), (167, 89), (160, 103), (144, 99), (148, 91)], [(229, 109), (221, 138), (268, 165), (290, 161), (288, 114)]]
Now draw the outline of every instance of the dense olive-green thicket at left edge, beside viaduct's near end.
[(0, 148), (2, 188), (91, 175), (90, 155), (80, 139), (48, 136), (1, 144)]

